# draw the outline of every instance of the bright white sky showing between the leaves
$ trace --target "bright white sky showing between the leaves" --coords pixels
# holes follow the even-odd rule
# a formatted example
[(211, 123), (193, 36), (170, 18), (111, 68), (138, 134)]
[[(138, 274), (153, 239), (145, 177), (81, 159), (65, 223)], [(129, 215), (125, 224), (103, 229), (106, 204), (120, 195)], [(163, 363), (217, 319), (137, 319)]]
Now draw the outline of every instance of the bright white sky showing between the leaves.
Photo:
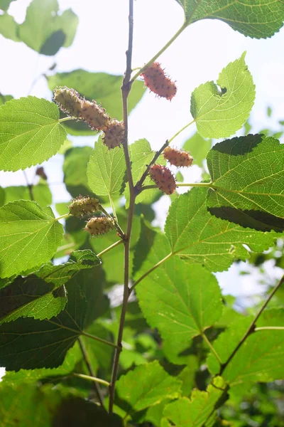
[[(92, 72), (104, 71), (123, 74), (126, 66), (125, 51), (128, 44), (128, 0), (59, 0), (60, 10), (72, 8), (79, 16), (75, 41), (70, 48), (62, 48), (55, 57), (57, 71), (65, 72), (84, 68)], [(11, 4), (9, 14), (22, 22), (30, 0), (17, 0)], [(134, 1), (133, 68), (146, 63), (180, 28), (182, 8), (175, 0)], [(132, 112), (129, 141), (146, 138), (153, 149), (158, 149), (165, 139), (172, 137), (190, 122), (190, 94), (201, 83), (217, 80), (219, 72), (229, 62), (247, 51), (246, 63), (256, 84), (256, 103), (251, 113), (253, 132), (263, 127), (278, 130), (278, 120), (284, 119), (284, 28), (272, 38), (256, 40), (246, 38), (232, 30), (226, 23), (206, 20), (194, 23), (163, 53), (158, 60), (168, 74), (177, 80), (178, 93), (169, 102), (146, 93), (142, 102)], [(54, 62), (54, 57), (38, 56), (24, 43), (15, 43), (0, 35), (0, 91), (14, 97), (26, 96), (33, 79), (44, 73)], [(44, 78), (38, 80), (31, 95), (51, 99)], [(273, 108), (268, 119), (266, 108)], [(180, 146), (192, 133), (195, 125), (182, 132), (174, 144)], [(93, 137), (71, 137), (76, 145), (93, 144)], [(58, 185), (62, 182), (62, 159), (59, 154), (44, 164), (49, 177), (53, 199), (68, 201), (70, 196)], [(28, 171), (31, 178), (34, 169)], [(200, 180), (197, 167), (187, 173), (187, 181)], [(0, 186), (25, 184), (23, 172), (0, 172)], [(166, 204), (160, 206), (160, 218), (165, 218)], [(246, 270), (249, 269), (248, 266)], [(259, 291), (258, 278), (237, 277), (236, 266), (229, 272), (218, 274), (226, 293), (251, 295)], [(279, 275), (270, 269), (272, 278)], [(263, 288), (262, 288), (263, 290)]]

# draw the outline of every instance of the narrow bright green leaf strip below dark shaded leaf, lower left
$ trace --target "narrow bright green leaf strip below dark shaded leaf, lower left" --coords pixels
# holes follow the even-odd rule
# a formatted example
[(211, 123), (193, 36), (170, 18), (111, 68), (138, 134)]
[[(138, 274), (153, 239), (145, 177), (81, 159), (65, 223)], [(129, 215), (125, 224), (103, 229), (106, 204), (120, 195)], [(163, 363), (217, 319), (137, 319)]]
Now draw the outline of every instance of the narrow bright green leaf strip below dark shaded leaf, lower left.
[(60, 367), (54, 369), (20, 369), (18, 372), (6, 371), (2, 379), (4, 386), (18, 386), (19, 384), (27, 384), (40, 379), (53, 379), (60, 376), (67, 376), (75, 370), (78, 362), (82, 359), (82, 352), (77, 342), (67, 351), (64, 362)]

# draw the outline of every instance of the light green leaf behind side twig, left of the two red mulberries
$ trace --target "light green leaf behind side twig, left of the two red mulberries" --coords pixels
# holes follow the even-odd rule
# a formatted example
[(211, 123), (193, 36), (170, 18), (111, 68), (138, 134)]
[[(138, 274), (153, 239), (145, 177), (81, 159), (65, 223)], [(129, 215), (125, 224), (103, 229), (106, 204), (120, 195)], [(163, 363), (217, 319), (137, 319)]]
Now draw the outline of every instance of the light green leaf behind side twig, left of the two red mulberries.
[[(131, 169), (133, 174), (133, 184), (135, 185), (138, 180), (141, 178), (143, 172), (146, 170), (146, 165), (151, 162), (155, 155), (155, 152), (152, 151), (150, 143), (147, 139), (138, 139), (138, 141), (134, 142), (129, 146), (129, 156), (131, 159)], [(165, 159), (161, 155), (158, 157), (156, 163), (165, 164)], [(143, 185), (151, 185), (153, 181), (151, 181), (150, 176), (147, 176)], [(153, 202), (155, 196), (160, 194), (159, 189), (149, 189), (147, 191), (142, 191), (141, 194), (138, 194), (136, 197), (136, 204), (138, 203), (149, 203)], [(126, 207), (129, 204), (129, 188), (126, 189)]]

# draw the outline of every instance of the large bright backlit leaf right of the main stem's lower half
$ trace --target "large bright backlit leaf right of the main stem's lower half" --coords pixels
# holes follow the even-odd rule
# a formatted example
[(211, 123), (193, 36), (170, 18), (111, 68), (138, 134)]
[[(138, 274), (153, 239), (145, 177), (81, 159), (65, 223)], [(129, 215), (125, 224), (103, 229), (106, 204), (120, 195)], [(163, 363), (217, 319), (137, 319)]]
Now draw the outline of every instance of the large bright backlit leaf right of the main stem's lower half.
[[(160, 254), (152, 251), (151, 260), (155, 265)], [(148, 324), (157, 327), (162, 338), (170, 339), (180, 352), (222, 315), (222, 296), (214, 275), (177, 257), (147, 275), (136, 294)]]

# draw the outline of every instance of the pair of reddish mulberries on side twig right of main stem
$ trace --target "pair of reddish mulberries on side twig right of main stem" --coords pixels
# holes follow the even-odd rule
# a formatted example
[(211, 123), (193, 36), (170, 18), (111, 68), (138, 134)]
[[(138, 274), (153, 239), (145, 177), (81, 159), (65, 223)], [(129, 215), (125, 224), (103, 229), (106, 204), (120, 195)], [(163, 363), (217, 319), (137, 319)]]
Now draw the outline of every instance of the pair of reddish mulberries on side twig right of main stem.
[[(193, 162), (193, 157), (185, 150), (166, 147), (163, 151), (163, 155), (170, 164), (176, 167), (190, 167)], [(160, 191), (163, 191), (165, 194), (173, 194), (175, 192), (177, 184), (175, 182), (175, 177), (168, 167), (154, 164), (151, 166), (149, 174)]]

